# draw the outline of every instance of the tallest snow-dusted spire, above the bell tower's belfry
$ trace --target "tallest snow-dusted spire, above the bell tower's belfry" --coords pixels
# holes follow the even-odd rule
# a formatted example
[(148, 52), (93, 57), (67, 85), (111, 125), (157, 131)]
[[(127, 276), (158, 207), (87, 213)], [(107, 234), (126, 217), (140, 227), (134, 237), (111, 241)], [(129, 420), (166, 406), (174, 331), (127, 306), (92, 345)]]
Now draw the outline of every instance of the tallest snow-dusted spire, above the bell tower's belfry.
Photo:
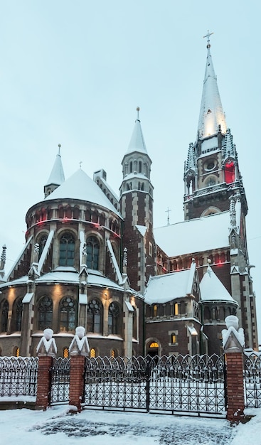
[(201, 109), (198, 119), (198, 136), (207, 137), (218, 132), (220, 125), (221, 132), (226, 132), (227, 126), (225, 123), (225, 113), (220, 100), (218, 91), (217, 77), (215, 75), (212, 58), (211, 58), (211, 43), (209, 37), (213, 33), (207, 33), (207, 61), (205, 77), (203, 82), (203, 92), (201, 98)]

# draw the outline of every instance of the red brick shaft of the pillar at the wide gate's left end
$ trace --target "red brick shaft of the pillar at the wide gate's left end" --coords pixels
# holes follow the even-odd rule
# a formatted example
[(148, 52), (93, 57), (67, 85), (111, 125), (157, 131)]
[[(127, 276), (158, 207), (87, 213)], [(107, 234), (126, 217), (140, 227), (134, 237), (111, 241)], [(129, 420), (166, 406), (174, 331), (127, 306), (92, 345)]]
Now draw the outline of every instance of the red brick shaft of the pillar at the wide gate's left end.
[(82, 409), (84, 370), (85, 357), (83, 355), (72, 355), (70, 358), (69, 404), (77, 407), (78, 412), (80, 412)]

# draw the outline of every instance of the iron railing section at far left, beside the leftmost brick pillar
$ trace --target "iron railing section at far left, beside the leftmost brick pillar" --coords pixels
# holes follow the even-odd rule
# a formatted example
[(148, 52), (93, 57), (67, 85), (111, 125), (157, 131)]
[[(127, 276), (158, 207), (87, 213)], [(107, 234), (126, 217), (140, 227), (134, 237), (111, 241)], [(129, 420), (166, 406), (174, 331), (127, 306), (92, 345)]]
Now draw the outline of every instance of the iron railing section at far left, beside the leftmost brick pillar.
[(38, 358), (0, 357), (0, 397), (36, 396)]

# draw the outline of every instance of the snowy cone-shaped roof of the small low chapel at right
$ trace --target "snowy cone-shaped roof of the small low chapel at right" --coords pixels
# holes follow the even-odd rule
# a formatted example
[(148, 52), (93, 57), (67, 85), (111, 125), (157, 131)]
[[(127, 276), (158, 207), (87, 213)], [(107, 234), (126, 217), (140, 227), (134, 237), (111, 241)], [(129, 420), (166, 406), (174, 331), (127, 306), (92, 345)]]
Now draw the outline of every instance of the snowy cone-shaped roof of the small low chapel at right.
[(199, 286), (201, 289), (201, 300), (203, 301), (232, 301), (236, 303), (210, 266), (208, 266), (207, 272), (203, 275)]

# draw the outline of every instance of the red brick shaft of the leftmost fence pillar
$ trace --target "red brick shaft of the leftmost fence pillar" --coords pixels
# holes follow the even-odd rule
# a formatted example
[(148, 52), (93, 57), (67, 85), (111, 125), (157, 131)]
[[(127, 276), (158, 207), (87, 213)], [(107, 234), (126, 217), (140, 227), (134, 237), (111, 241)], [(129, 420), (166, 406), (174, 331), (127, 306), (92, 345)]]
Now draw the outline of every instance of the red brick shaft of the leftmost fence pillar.
[(46, 409), (50, 406), (50, 368), (53, 365), (53, 357), (43, 355), (39, 357), (36, 409)]

